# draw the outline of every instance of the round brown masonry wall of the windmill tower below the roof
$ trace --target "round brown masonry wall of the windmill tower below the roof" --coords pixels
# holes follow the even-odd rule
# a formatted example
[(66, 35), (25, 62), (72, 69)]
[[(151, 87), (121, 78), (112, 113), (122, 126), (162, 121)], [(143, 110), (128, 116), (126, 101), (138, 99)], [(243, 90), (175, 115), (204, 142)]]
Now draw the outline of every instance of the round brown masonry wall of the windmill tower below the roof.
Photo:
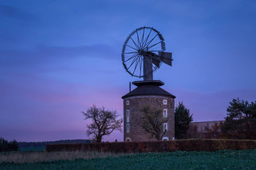
[[(129, 100), (129, 105), (126, 101)], [(166, 105), (163, 100), (167, 100)], [(126, 97), (123, 100), (123, 141), (154, 141), (151, 136), (140, 126), (141, 115), (140, 109), (143, 106), (151, 106), (155, 109), (167, 109), (167, 132), (164, 137), (172, 139), (175, 136), (175, 120), (174, 120), (174, 99), (166, 96), (145, 95), (136, 97)], [(130, 122), (126, 122), (126, 110), (130, 110)], [(130, 124), (130, 132), (126, 132), (126, 124)]]

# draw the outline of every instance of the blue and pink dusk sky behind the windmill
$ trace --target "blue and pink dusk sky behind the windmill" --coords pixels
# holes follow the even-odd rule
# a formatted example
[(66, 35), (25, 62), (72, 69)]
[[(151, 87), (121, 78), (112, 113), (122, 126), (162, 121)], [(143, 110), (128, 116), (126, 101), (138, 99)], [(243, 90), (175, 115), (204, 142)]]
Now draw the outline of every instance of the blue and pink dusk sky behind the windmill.
[[(142, 26), (160, 31), (174, 60), (154, 79), (194, 121), (224, 120), (233, 98), (256, 100), (256, 1), (0, 0), (0, 136), (88, 139), (81, 112), (93, 104), (123, 117), (121, 97), (142, 79), (121, 50)], [(115, 139), (123, 133), (104, 141)]]

